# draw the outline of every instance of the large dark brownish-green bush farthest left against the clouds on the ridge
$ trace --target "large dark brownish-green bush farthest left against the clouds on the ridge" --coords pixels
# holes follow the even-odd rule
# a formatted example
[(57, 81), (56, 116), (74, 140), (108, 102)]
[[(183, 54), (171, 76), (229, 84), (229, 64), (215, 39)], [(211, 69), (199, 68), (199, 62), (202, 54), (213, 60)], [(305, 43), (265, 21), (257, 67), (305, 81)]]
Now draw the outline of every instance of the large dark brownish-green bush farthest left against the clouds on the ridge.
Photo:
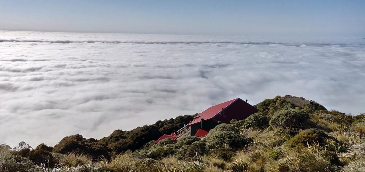
[(70, 153), (74, 151), (86, 152), (85, 138), (80, 134), (64, 137), (58, 144), (54, 145), (52, 152)]

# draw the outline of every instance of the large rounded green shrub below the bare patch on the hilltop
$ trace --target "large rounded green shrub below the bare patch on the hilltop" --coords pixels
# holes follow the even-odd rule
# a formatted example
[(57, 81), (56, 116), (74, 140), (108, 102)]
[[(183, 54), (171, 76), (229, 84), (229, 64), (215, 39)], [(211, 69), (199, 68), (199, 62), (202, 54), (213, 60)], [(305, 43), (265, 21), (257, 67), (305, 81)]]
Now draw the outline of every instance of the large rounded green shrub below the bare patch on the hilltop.
[(276, 112), (269, 121), (272, 127), (299, 128), (309, 119), (309, 114), (304, 110), (282, 109)]

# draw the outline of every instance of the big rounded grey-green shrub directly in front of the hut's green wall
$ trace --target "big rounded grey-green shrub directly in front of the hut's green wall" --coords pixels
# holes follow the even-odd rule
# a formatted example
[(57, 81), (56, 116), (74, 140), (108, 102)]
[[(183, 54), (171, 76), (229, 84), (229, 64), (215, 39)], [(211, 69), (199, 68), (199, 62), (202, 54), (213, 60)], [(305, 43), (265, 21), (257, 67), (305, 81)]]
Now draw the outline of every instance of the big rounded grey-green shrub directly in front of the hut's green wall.
[(236, 150), (248, 144), (231, 124), (217, 125), (211, 129), (205, 140), (207, 140), (207, 149), (214, 149), (220, 145), (228, 144), (229, 147)]

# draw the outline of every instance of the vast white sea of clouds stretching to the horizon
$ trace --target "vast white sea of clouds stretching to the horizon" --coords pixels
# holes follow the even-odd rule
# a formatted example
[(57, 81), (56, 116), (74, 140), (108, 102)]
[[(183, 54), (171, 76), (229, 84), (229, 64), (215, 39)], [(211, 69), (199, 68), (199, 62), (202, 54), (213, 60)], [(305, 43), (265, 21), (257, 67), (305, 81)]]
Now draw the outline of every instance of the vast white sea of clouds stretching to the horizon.
[(0, 31), (0, 142), (13, 146), (277, 95), (365, 113), (365, 39)]

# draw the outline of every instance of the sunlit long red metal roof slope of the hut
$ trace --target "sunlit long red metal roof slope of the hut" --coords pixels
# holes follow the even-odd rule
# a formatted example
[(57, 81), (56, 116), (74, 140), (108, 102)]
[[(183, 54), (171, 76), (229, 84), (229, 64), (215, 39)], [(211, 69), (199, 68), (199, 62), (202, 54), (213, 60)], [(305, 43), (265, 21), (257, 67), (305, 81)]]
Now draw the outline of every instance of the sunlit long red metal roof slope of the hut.
[[(239, 98), (237, 98), (239, 99)], [(204, 112), (201, 112), (199, 115), (195, 116), (194, 119), (190, 124), (188, 124), (187, 126), (191, 126), (191, 125), (195, 125), (197, 123), (200, 123), (201, 120), (200, 118), (204, 118), (204, 121), (209, 120), (209, 119), (213, 119), (215, 120), (213, 117), (215, 115), (217, 115), (220, 111), (222, 111), (222, 108), (226, 108), (228, 107), (228, 105), (232, 104), (234, 101), (236, 101), (237, 99), (233, 99), (230, 101), (226, 101), (224, 103), (221, 104), (217, 104), (214, 105), (210, 108), (208, 108), (207, 110), (205, 110)], [(199, 118), (199, 119), (198, 119)], [(215, 120), (216, 121), (216, 120)], [(218, 121), (216, 121), (218, 123)]]

